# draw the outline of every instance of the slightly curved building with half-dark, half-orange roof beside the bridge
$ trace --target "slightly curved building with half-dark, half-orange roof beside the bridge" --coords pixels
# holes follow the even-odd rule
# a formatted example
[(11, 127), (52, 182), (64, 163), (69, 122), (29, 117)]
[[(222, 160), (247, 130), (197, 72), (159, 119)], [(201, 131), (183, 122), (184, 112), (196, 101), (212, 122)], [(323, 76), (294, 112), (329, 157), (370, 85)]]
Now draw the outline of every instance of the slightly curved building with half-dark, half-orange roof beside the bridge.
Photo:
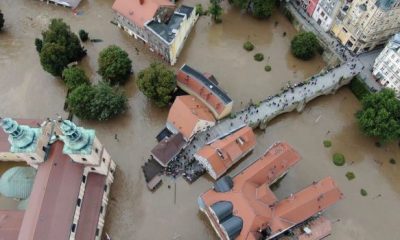
[(228, 116), (233, 100), (222, 90), (213, 77), (208, 77), (184, 64), (177, 73), (178, 86), (203, 102), (216, 119)]

